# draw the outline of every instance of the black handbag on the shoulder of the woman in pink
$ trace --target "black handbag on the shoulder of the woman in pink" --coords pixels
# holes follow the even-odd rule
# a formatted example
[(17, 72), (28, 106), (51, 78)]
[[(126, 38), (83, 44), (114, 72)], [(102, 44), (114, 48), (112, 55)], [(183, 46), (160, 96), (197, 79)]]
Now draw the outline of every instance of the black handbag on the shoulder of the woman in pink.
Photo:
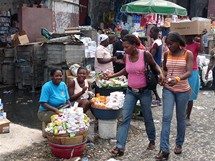
[(146, 83), (147, 88), (150, 90), (156, 89), (156, 86), (158, 84), (158, 73), (154, 71), (149, 65), (149, 60), (146, 56), (146, 51), (144, 51), (144, 61), (145, 61), (145, 74), (146, 74)]

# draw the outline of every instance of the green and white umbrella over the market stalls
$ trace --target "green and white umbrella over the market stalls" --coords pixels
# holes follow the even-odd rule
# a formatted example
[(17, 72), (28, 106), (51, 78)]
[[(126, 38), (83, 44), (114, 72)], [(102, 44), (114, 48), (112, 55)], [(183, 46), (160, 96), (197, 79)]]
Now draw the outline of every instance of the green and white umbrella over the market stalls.
[(122, 5), (120, 11), (136, 14), (157, 13), (163, 15), (187, 15), (186, 8), (166, 0), (138, 0)]

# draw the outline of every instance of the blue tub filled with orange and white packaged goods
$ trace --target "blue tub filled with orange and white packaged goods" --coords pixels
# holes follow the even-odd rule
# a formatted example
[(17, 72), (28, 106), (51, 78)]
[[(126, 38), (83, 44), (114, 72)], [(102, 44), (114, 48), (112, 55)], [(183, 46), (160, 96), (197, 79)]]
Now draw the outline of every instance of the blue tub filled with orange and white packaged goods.
[(92, 113), (97, 119), (113, 120), (117, 119), (124, 103), (125, 95), (123, 92), (112, 92), (110, 96), (100, 96), (92, 98)]

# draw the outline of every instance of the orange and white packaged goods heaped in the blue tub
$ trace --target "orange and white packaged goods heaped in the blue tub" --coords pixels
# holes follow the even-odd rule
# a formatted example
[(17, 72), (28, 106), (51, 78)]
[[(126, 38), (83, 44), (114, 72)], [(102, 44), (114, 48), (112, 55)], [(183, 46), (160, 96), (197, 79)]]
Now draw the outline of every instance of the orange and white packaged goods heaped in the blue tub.
[(110, 96), (100, 96), (100, 94), (97, 93), (96, 97), (92, 98), (92, 105), (101, 109), (118, 110), (122, 108), (124, 99), (125, 94), (123, 94), (123, 92), (112, 92)]

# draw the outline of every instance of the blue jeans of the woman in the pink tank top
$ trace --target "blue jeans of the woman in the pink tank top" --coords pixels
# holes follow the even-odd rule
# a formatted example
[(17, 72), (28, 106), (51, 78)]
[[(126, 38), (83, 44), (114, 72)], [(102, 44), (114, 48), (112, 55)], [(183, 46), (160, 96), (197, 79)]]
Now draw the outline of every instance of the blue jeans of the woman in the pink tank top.
[(126, 140), (128, 137), (128, 130), (130, 127), (131, 118), (133, 115), (134, 108), (136, 106), (137, 100), (140, 100), (141, 110), (143, 113), (143, 118), (146, 127), (146, 133), (149, 140), (155, 140), (155, 125), (152, 117), (151, 103), (152, 103), (152, 93), (151, 90), (145, 89), (142, 93), (133, 92), (127, 89), (125, 95), (125, 101), (123, 105), (123, 121), (120, 124), (117, 131), (117, 142), (116, 146), (118, 148), (125, 148)]

